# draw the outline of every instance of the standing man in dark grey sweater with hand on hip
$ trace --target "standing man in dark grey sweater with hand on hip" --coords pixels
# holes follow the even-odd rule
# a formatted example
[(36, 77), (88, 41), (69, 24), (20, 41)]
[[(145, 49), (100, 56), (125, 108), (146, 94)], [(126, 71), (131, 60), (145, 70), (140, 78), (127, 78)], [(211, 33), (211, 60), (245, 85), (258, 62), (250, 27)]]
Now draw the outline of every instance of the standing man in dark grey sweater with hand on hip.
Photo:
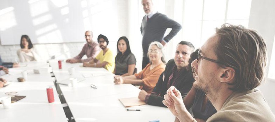
[[(149, 63), (147, 57), (148, 47), (151, 42), (158, 41), (163, 46), (169, 42), (181, 29), (181, 25), (169, 19), (166, 15), (153, 10), (152, 0), (142, 0), (145, 16), (142, 19), (140, 31), (142, 34), (142, 69)], [(164, 33), (167, 28), (172, 28), (167, 36)]]

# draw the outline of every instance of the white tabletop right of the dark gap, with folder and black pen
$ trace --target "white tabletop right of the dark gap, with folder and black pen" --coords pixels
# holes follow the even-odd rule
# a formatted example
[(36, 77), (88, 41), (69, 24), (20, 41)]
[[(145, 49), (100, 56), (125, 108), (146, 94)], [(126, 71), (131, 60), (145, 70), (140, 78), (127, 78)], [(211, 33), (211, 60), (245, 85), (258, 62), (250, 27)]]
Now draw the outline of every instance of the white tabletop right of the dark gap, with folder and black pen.
[[(62, 69), (57, 60), (50, 60), (50, 66), (58, 82), (70, 78), (81, 79), (77, 86), (59, 84), (62, 94), (76, 122), (87, 121), (173, 121), (175, 117), (165, 107), (140, 105), (124, 107), (120, 98), (138, 97), (141, 91), (131, 84), (113, 83), (114, 74), (104, 68), (83, 67), (82, 63), (62, 62)], [(68, 69), (74, 67), (75, 73), (70, 75)], [(92, 74), (92, 75), (91, 75)], [(90, 75), (90, 76), (89, 76)], [(97, 86), (92, 88), (90, 84)], [(141, 111), (127, 111), (139, 109)]]

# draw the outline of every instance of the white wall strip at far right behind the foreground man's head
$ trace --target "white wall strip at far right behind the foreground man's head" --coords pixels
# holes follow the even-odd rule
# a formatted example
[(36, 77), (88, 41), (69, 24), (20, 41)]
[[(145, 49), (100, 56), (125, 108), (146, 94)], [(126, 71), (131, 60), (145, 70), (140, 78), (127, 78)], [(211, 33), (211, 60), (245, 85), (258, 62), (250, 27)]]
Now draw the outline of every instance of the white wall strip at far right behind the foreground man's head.
[[(275, 1), (274, 0), (252, 0), (248, 28), (257, 30), (266, 40), (267, 57), (270, 62), (272, 46), (275, 35)], [(269, 68), (269, 63), (266, 69)], [(273, 67), (274, 68), (274, 67)], [(259, 86), (273, 113), (275, 113), (275, 81), (266, 79), (266, 82)]]

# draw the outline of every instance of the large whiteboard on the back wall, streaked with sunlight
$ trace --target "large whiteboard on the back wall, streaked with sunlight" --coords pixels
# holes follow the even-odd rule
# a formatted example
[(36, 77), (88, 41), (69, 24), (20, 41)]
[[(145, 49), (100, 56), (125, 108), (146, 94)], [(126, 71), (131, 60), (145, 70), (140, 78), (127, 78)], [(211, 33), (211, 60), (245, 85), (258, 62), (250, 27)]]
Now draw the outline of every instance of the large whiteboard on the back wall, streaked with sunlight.
[(97, 31), (94, 40), (97, 34), (116, 35), (119, 12), (114, 4), (116, 0), (1, 0), (1, 44), (19, 45), (22, 35), (33, 44), (86, 42), (86, 30)]

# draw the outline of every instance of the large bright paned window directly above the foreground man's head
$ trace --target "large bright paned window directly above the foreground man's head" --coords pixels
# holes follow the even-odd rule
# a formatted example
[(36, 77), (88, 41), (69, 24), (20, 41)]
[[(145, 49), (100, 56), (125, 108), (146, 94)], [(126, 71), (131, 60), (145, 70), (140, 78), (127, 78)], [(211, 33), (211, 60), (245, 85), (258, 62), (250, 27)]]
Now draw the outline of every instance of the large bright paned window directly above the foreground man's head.
[(251, 0), (186, 0), (182, 38), (198, 48), (223, 23), (247, 27), (250, 7)]

